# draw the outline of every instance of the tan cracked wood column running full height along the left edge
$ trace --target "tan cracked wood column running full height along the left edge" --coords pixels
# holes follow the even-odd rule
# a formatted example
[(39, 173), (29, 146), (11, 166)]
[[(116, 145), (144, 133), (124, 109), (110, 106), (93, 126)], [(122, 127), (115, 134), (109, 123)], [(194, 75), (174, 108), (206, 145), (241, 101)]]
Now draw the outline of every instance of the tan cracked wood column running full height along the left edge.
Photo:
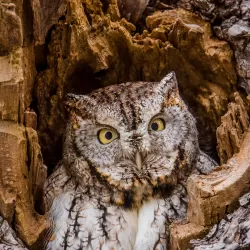
[(8, 240), (15, 243), (18, 236), (35, 248), (48, 225), (41, 215), (41, 190), (47, 171), (37, 133), (29, 128), (35, 128), (36, 116), (24, 113), (32, 101), (36, 73), (34, 48), (24, 24), (29, 15), (23, 9), (28, 8), (26, 4), (0, 1), (0, 214), (6, 220), (0, 227), (1, 247)]

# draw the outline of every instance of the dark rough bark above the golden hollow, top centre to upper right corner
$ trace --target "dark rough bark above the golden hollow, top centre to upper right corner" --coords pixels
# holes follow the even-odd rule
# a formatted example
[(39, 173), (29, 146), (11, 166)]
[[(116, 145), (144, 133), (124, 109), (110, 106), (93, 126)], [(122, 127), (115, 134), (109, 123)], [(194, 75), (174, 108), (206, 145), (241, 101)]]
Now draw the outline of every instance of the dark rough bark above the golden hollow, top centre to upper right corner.
[[(155, 10), (177, 7), (201, 15), (212, 24), (215, 35), (228, 41), (232, 46), (239, 86), (243, 87), (248, 94), (250, 93), (250, 3), (248, 0), (138, 0), (136, 6), (129, 0), (119, 0), (118, 3), (120, 3), (121, 14), (134, 23), (141, 23), (142, 28), (145, 28), (146, 16)], [(130, 13), (132, 15), (129, 15)]]

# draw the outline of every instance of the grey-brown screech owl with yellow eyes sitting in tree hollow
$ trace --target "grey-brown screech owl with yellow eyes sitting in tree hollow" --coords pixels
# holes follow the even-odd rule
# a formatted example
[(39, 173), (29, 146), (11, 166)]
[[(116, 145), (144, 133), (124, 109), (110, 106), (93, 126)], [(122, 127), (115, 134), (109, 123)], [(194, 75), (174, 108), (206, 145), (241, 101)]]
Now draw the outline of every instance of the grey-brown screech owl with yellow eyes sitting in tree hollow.
[(187, 211), (186, 180), (216, 163), (201, 152), (175, 74), (69, 94), (63, 159), (46, 184), (47, 249), (167, 249)]

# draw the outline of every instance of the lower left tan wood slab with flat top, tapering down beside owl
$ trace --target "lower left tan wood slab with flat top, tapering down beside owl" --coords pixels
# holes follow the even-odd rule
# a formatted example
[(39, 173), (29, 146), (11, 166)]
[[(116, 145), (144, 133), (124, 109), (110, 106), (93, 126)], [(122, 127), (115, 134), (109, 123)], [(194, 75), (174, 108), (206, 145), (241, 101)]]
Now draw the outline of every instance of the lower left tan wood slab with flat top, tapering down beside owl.
[[(29, 154), (25, 128), (9, 121), (0, 122), (0, 213), (9, 223), (15, 220), (19, 237), (31, 246), (47, 228), (45, 217), (34, 209), (32, 196), (33, 190), (36, 197), (37, 186), (41, 188), (46, 175), (40, 174), (41, 158), (39, 150), (35, 150), (34, 135), (28, 138)], [(31, 157), (30, 171), (27, 156)]]

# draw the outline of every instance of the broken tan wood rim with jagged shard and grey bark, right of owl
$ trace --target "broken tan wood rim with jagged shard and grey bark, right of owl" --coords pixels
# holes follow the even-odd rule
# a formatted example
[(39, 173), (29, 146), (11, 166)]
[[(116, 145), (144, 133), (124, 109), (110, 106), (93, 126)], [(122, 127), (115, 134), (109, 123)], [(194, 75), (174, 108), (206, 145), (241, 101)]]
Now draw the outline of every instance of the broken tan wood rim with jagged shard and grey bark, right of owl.
[[(222, 220), (214, 226), (209, 235), (201, 241), (193, 241), (195, 249), (237, 249), (249, 244), (247, 236), (248, 222), (241, 220), (249, 217), (248, 202), (244, 203), (233, 215), (225, 217), (238, 206), (238, 197), (250, 188), (250, 130), (249, 116), (246, 104), (239, 93), (234, 93), (235, 102), (228, 105), (228, 112), (222, 117), (221, 125), (217, 129), (218, 152), (221, 161), (227, 164), (218, 167), (216, 171), (207, 176), (191, 176), (188, 183), (189, 209), (186, 228), (195, 228), (191, 235), (182, 231), (183, 226), (176, 225), (180, 235), (173, 237), (174, 249), (187, 249), (191, 247), (190, 238), (202, 238), (209, 226)], [(237, 154), (236, 154), (237, 153)], [(242, 200), (246, 200), (247, 195)], [(241, 205), (243, 206), (241, 200)], [(241, 224), (243, 223), (243, 224)], [(203, 227), (201, 227), (203, 226)], [(174, 232), (173, 232), (174, 234)], [(178, 234), (174, 234), (178, 235)], [(238, 235), (241, 235), (238, 237)], [(243, 236), (244, 235), (244, 236)], [(227, 240), (228, 237), (230, 240)], [(244, 237), (244, 239), (243, 239)], [(244, 244), (243, 244), (244, 241)], [(178, 245), (176, 245), (178, 244)], [(182, 247), (179, 247), (182, 246)], [(178, 248), (179, 247), (179, 248)]]

